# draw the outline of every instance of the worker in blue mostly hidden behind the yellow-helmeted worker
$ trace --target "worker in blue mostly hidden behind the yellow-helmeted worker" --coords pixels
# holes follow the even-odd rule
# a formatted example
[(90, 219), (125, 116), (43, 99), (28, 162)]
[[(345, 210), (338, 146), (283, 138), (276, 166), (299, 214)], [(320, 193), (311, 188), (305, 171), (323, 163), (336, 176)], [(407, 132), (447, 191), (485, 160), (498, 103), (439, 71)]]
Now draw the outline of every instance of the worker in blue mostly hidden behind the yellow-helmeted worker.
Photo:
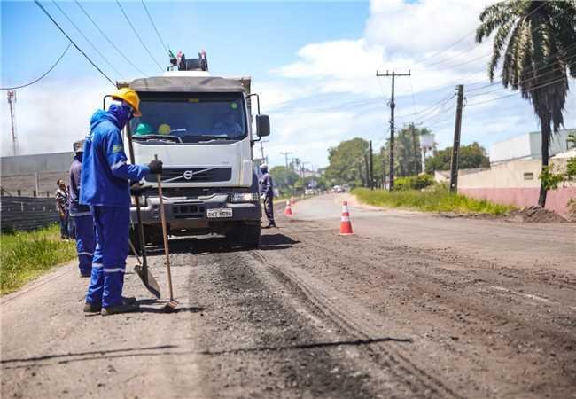
[(80, 277), (89, 278), (92, 273), (92, 255), (94, 254), (94, 223), (90, 207), (78, 202), (80, 199), (82, 151), (84, 140), (74, 143), (74, 160), (70, 165), (70, 219), (76, 234), (76, 254)]

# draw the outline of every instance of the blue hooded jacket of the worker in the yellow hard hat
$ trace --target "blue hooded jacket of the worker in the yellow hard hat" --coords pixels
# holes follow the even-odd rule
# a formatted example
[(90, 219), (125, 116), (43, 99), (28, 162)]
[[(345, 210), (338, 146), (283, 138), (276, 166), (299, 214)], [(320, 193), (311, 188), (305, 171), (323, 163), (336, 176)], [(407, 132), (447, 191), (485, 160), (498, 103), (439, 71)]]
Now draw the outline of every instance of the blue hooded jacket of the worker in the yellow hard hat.
[(129, 207), (128, 180), (140, 181), (150, 173), (144, 165), (130, 165), (124, 153), (121, 129), (129, 110), (111, 105), (97, 110), (90, 119), (90, 133), (82, 156), (80, 203), (92, 207)]

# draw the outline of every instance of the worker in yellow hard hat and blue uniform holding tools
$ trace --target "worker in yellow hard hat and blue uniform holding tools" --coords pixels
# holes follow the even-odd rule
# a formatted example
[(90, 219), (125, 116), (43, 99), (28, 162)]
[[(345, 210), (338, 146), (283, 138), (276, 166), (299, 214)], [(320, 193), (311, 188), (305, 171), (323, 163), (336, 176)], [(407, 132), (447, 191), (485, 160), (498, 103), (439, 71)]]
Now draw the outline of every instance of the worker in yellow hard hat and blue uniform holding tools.
[(136, 91), (122, 88), (112, 95), (108, 111), (98, 110), (90, 120), (82, 160), (80, 203), (89, 205), (96, 229), (90, 286), (85, 312), (107, 316), (136, 311), (135, 298), (123, 298), (130, 223), (129, 182), (160, 174), (162, 161), (148, 166), (128, 164), (121, 130), (133, 116), (141, 116)]

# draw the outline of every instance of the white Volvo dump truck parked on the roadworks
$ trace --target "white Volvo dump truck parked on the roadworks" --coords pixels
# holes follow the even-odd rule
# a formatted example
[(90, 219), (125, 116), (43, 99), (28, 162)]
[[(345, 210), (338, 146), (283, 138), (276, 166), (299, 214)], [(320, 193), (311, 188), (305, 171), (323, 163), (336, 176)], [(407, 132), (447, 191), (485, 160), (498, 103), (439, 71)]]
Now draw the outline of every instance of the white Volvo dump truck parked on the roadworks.
[[(253, 248), (261, 236), (253, 145), (269, 135), (269, 117), (260, 113), (250, 77), (212, 76), (201, 56), (198, 62), (168, 67), (163, 76), (120, 84), (136, 90), (141, 100), (142, 116), (123, 133), (125, 143), (131, 142), (129, 158), (147, 163), (158, 155), (163, 161), (160, 179), (170, 236), (218, 234), (230, 245)], [(156, 178), (139, 182), (142, 195), (133, 199), (131, 236), (137, 246), (142, 243), (136, 200), (145, 244), (162, 242)]]

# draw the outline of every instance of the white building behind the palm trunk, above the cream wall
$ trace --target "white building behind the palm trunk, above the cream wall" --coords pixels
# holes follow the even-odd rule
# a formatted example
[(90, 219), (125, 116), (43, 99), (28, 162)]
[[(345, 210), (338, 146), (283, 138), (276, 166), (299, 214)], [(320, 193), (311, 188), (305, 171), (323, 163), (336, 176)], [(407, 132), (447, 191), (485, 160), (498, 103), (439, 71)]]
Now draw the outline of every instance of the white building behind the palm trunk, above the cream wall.
[[(564, 129), (552, 135), (549, 156), (564, 153), (570, 149), (571, 145), (567, 142), (569, 133), (576, 133), (576, 129)], [(541, 160), (541, 143), (539, 131), (494, 143), (490, 147), (490, 163), (496, 165), (510, 160)]]

